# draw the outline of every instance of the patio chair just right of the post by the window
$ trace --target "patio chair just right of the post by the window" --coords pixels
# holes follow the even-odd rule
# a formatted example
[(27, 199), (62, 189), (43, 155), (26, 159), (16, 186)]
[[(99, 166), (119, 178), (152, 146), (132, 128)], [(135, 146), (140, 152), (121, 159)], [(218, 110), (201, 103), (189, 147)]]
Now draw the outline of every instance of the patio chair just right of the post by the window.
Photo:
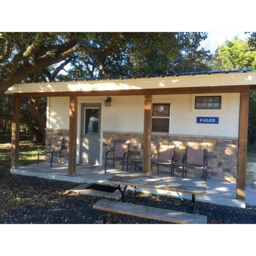
[[(151, 170), (153, 166), (157, 166), (157, 175), (159, 173), (159, 165), (170, 167), (170, 176), (174, 175), (174, 154), (175, 146), (173, 145), (159, 145), (158, 152), (153, 155)], [(157, 159), (154, 159), (157, 156)]]

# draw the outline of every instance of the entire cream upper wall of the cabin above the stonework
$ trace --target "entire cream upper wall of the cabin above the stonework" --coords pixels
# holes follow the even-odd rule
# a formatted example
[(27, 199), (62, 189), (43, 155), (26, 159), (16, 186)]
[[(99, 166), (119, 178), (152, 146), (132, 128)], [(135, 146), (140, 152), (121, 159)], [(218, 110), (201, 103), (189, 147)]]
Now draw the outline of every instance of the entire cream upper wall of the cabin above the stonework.
[[(221, 95), (221, 109), (195, 109), (195, 95), (155, 95), (153, 102), (172, 104), (171, 134), (237, 137), (239, 93), (218, 93), (218, 95)], [(108, 108), (104, 106), (105, 98), (79, 97), (79, 104), (81, 102), (102, 103), (102, 131), (143, 132), (143, 96), (111, 97), (112, 104)], [(68, 129), (68, 100), (68, 97), (49, 99), (47, 115), (49, 128)], [(80, 108), (81, 106), (79, 106), (79, 113), (81, 113)], [(196, 116), (218, 116), (220, 123), (196, 124)]]

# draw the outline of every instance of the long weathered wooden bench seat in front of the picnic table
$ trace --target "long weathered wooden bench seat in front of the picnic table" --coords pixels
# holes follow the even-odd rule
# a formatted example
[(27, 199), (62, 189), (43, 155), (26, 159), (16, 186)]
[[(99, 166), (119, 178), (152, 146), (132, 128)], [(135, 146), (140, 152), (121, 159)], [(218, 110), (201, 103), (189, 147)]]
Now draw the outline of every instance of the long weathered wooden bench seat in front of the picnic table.
[(93, 209), (179, 224), (207, 224), (207, 216), (203, 215), (109, 200), (99, 200), (93, 205)]

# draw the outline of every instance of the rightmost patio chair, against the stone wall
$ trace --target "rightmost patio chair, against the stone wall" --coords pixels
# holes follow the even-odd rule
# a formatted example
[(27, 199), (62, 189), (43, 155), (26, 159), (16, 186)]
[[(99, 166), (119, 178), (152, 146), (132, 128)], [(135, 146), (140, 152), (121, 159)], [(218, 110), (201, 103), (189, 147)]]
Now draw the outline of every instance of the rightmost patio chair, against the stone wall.
[(207, 165), (206, 159), (206, 150), (205, 148), (194, 149), (191, 147), (186, 148), (186, 154), (183, 157), (182, 161), (182, 178), (187, 177), (187, 169), (193, 168), (195, 170), (202, 170), (203, 180), (207, 179)]

